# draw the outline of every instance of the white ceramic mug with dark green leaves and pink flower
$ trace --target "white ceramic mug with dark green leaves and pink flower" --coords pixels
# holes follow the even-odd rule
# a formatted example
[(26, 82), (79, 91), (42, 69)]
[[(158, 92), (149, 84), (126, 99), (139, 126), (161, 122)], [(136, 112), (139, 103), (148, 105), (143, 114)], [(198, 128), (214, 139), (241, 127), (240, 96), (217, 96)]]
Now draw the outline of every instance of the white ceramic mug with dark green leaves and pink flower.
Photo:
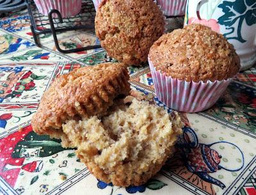
[(256, 62), (256, 0), (188, 0), (184, 25), (199, 23), (234, 45), (241, 70)]

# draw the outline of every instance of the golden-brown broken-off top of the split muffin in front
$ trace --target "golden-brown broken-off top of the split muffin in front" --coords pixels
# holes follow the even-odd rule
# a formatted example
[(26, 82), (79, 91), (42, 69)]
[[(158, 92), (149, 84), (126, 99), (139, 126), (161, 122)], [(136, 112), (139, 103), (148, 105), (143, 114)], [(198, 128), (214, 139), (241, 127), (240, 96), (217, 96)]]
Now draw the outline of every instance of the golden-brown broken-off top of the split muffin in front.
[(130, 91), (127, 68), (122, 63), (104, 63), (75, 69), (56, 78), (44, 93), (32, 127), (38, 134), (61, 138), (63, 147), (74, 147), (62, 131), (68, 119), (102, 115), (113, 99)]

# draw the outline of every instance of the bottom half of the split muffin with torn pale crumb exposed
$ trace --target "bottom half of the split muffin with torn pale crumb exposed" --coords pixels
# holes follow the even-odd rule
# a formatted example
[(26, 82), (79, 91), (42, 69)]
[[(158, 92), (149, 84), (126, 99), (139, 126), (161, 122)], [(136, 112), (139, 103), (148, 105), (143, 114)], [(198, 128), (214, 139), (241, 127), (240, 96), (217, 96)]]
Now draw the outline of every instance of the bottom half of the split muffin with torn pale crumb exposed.
[(134, 99), (110, 115), (67, 120), (63, 131), (95, 177), (127, 187), (145, 184), (174, 150), (181, 130), (177, 113)]

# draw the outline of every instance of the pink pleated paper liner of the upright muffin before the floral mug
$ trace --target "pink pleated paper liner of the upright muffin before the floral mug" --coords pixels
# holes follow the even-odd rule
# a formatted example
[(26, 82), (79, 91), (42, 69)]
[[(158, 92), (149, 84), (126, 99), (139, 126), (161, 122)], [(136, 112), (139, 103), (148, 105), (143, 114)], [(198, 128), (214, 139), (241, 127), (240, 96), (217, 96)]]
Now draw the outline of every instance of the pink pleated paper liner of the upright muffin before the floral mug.
[(227, 89), (232, 78), (211, 82), (186, 82), (157, 71), (148, 59), (157, 98), (180, 112), (201, 112), (213, 106)]

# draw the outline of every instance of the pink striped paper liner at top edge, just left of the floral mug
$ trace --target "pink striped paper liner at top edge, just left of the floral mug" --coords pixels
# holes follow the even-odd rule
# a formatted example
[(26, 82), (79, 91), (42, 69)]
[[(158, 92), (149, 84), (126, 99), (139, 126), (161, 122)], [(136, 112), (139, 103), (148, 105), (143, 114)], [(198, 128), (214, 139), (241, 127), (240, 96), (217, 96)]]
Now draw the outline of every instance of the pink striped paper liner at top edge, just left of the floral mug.
[(187, 0), (157, 0), (157, 4), (167, 16), (185, 15), (186, 3)]

